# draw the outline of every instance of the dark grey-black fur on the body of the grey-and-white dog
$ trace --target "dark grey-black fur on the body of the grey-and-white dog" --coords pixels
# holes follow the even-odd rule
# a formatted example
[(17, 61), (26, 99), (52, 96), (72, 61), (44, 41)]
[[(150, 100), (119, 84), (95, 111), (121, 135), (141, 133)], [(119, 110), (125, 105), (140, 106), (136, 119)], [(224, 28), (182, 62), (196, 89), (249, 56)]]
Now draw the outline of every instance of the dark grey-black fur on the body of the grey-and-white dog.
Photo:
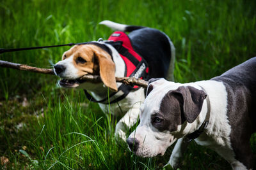
[(231, 145), (236, 159), (251, 169), (254, 159), (250, 136), (256, 131), (256, 57), (211, 80), (222, 81), (226, 87)]

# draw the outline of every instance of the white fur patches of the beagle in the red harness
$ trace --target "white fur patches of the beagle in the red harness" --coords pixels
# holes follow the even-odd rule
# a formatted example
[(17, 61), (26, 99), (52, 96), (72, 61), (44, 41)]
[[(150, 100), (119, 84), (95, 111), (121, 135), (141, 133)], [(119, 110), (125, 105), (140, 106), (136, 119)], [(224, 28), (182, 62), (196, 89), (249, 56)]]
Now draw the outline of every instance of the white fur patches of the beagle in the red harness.
[[(118, 31), (125, 31), (125, 28), (127, 25), (125, 24), (118, 24), (115, 22), (111, 22), (109, 20), (104, 20), (100, 22), (99, 24), (106, 25), (110, 27), (111, 29), (118, 30)], [(168, 36), (166, 36), (168, 38)], [(169, 38), (168, 38), (169, 39)], [(170, 41), (170, 39), (169, 39)], [(97, 43), (104, 43), (104, 41), (97, 41)], [(109, 49), (112, 52), (112, 57), (113, 57), (113, 62), (115, 62), (115, 76), (125, 76), (125, 62), (120, 57), (119, 53), (113, 48), (113, 46), (108, 45), (104, 43), (104, 45), (107, 45)], [(171, 45), (171, 53), (172, 53), (172, 59), (170, 61), (170, 67), (169, 73), (173, 74), (173, 69), (174, 69), (174, 60), (175, 60), (175, 48), (172, 44), (172, 41), (170, 41)], [(71, 58), (71, 57), (70, 57)], [(61, 76), (62, 78), (68, 78), (68, 79), (75, 79), (77, 77), (77, 69), (76, 67), (73, 66), (72, 64), (72, 59), (66, 59), (66, 60), (61, 60), (57, 64), (65, 64), (65, 66), (68, 66), (67, 69), (68, 71), (63, 74), (67, 74), (67, 76)], [(169, 76), (169, 75), (168, 75)], [(173, 80), (173, 76), (171, 76)], [(117, 83), (117, 87), (120, 87), (122, 83)], [(108, 92), (108, 88), (104, 86), (103, 83), (97, 83), (96, 85), (94, 83), (90, 82), (84, 82), (79, 85), (80, 89), (86, 89), (88, 90), (92, 96), (100, 101), (101, 99), (106, 98), (106, 94)], [(118, 92), (115, 94), (115, 96), (111, 97), (112, 99), (115, 99), (115, 97), (121, 96), (123, 94), (122, 91)], [(118, 115), (118, 116), (123, 116), (124, 117), (120, 119), (120, 121), (116, 124), (116, 131), (115, 131), (115, 136), (119, 136), (122, 139), (126, 139), (126, 132), (127, 130), (132, 127), (132, 125), (136, 124), (138, 120), (138, 116), (140, 115), (140, 106), (141, 103), (145, 100), (145, 94), (144, 94), (144, 89), (140, 88), (135, 91), (129, 92), (129, 94), (125, 97), (125, 99), (122, 99), (122, 101), (118, 103), (113, 103), (110, 105), (108, 104), (100, 104), (100, 108), (105, 112), (108, 113), (109, 111), (113, 115)]]

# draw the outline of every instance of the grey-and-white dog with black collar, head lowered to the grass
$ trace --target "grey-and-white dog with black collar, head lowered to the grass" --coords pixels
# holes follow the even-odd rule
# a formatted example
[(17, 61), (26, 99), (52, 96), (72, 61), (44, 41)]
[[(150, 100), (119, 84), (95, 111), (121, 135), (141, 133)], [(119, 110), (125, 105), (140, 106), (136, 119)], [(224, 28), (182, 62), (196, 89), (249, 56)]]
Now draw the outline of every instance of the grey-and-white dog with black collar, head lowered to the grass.
[(177, 168), (188, 144), (184, 139), (190, 138), (212, 148), (233, 169), (253, 168), (250, 136), (256, 130), (256, 57), (207, 81), (150, 80), (147, 95), (140, 124), (127, 139), (136, 155), (163, 155), (177, 141), (168, 162)]

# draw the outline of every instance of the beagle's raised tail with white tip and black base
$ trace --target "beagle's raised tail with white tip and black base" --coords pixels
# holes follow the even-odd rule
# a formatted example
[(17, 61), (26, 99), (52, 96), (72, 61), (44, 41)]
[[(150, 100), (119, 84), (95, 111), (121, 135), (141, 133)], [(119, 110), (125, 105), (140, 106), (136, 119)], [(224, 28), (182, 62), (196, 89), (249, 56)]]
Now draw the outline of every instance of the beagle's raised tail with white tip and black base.
[(115, 31), (127, 31), (127, 32), (131, 32), (134, 31), (136, 29), (142, 29), (145, 28), (143, 26), (136, 26), (136, 25), (125, 25), (125, 24), (118, 24), (116, 22), (112, 22), (110, 20), (104, 20), (102, 22), (100, 22), (99, 24), (101, 25), (106, 25), (107, 27), (115, 30)]

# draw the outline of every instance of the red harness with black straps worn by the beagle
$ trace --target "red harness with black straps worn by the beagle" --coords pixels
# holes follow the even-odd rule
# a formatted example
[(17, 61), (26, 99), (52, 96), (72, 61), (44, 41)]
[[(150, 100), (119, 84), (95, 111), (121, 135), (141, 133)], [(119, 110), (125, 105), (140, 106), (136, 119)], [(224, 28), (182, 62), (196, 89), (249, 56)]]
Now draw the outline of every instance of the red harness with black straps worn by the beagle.
[[(120, 57), (122, 57), (122, 59), (124, 60), (125, 62), (124, 76), (127, 76), (127, 77), (134, 76), (135, 78), (148, 80), (149, 70), (148, 70), (147, 62), (143, 59), (143, 57), (141, 57), (137, 52), (134, 51), (134, 49), (132, 48), (131, 40), (129, 39), (127, 34), (125, 34), (125, 32), (122, 32), (122, 31), (113, 32), (113, 34), (109, 36), (108, 41), (106, 41), (106, 43), (113, 45), (114, 48), (119, 53)], [(110, 104), (116, 103), (124, 99), (124, 97), (126, 97), (129, 94), (129, 92), (131, 92), (131, 90), (138, 90), (138, 89), (140, 89), (140, 87), (138, 86), (131, 87), (129, 85), (122, 84), (120, 85), (120, 87), (118, 87), (117, 92), (122, 91), (124, 92), (124, 94), (122, 94), (119, 97), (116, 97), (113, 100), (111, 100), (111, 98), (115, 96), (117, 92), (113, 92), (109, 94), (109, 101), (110, 101), (109, 103)], [(88, 94), (86, 90), (84, 90), (84, 92), (86, 94), (86, 97), (90, 101), (108, 104), (108, 97), (100, 101), (97, 101), (92, 96), (90, 96), (90, 94)]]

